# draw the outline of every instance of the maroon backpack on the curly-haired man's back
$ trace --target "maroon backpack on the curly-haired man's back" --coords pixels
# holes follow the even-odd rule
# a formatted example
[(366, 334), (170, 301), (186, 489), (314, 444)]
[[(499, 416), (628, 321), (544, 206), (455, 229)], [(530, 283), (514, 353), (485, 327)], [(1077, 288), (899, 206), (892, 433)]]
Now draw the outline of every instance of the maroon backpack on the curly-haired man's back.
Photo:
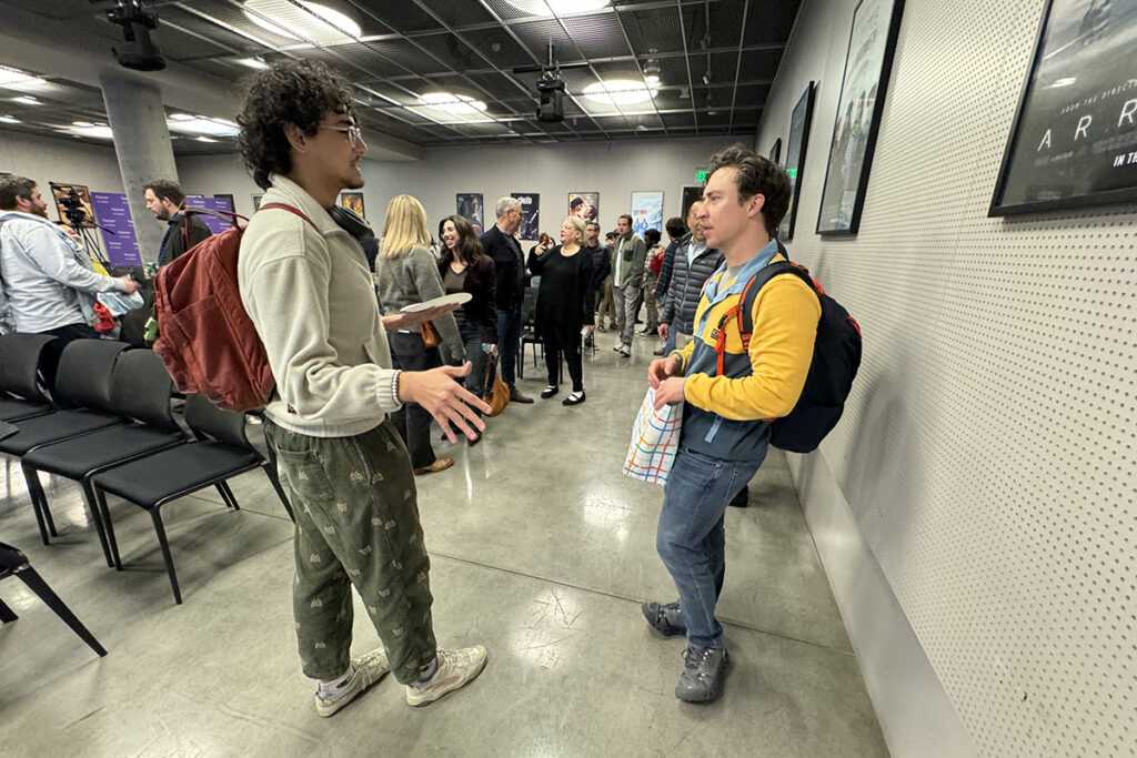
[[(296, 214), (316, 228), (291, 206), (271, 202), (260, 210), (269, 208)], [(163, 266), (155, 278), (153, 351), (166, 363), (179, 392), (200, 394), (226, 410), (263, 406), (275, 386), (265, 345), (236, 284), (243, 234), (239, 226), (215, 234)]]

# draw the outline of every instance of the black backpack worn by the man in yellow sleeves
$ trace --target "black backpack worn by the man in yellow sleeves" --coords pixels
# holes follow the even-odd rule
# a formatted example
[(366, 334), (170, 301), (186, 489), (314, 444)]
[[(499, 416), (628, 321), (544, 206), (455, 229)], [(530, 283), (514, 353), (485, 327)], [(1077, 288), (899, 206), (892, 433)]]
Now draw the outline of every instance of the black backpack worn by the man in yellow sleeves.
[[(845, 410), (845, 399), (861, 367), (861, 327), (839, 302), (825, 294), (807, 268), (782, 260), (760, 270), (742, 290), (736, 313), (744, 350), (749, 350), (754, 331), (754, 299), (766, 282), (781, 274), (794, 274), (810, 285), (821, 301), (821, 318), (802, 397), (788, 416), (773, 419), (770, 444), (790, 452), (812, 452), (837, 426)], [(722, 326), (719, 325), (720, 331)]]

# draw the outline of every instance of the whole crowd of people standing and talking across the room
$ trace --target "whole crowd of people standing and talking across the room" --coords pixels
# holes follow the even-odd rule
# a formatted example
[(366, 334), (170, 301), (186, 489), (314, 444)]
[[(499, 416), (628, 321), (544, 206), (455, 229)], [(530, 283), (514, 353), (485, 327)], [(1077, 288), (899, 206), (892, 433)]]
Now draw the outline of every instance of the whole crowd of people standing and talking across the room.
[[(723, 514), (765, 457), (769, 419), (800, 394), (820, 315), (806, 284), (775, 277), (754, 301), (749, 343), (725, 327), (750, 276), (785, 259), (773, 239), (789, 202), (785, 172), (741, 145), (727, 148), (711, 160), (704, 200), (686, 222), (666, 223), (667, 244), (657, 230), (634, 233), (630, 215), (604, 242), (596, 220), (568, 215), (559, 243), (526, 257), (514, 198), (497, 201), (483, 234), (453, 215), (438, 224), (437, 240), (408, 194), (390, 201), (377, 235), (339, 208), (341, 191), (364, 184), (358, 164), (367, 147), (349, 83), (324, 64), (290, 60), (256, 74), (238, 123), (263, 206), (277, 208), (250, 220), (238, 281), (276, 382), (265, 436), (296, 514), (293, 616), (304, 673), (317, 681), (316, 711), (331, 716), (388, 672), (409, 705), (428, 705), (484, 667), (482, 645), (437, 644), (415, 477), (454, 464), (435, 455), (433, 423), (450, 442), (482, 439), (495, 364), (511, 401), (534, 402), (515, 374), (532, 283), (548, 378), (540, 397), (559, 393), (563, 357), (570, 407), (587, 398), (582, 345), (611, 330), (614, 350), (629, 357), (647, 305), (644, 333), (661, 342), (646, 383), (657, 407), (681, 405), (684, 422), (656, 542), (679, 598), (645, 602), (642, 613), (661, 634), (687, 636), (677, 697), (714, 699), (729, 659), (714, 615)], [(158, 257), (166, 265), (204, 225), (172, 182), (148, 185), (146, 200), (168, 224)], [(0, 182), (0, 323), (60, 342), (97, 336), (91, 297), (131, 293), (138, 282), (82, 265), (80, 247), (44, 211), (34, 183)], [(457, 293), (470, 297), (421, 307)], [(352, 588), (382, 641), (356, 658)]]

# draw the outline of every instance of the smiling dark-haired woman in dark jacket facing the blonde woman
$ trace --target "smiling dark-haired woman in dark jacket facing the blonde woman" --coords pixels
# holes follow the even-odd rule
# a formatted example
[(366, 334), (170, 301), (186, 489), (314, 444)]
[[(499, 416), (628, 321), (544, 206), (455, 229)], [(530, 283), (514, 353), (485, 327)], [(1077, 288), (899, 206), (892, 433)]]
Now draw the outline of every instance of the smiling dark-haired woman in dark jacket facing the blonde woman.
[[(438, 273), (447, 294), (468, 292), (470, 302), (454, 311), (458, 322), (458, 334), (466, 345), (466, 360), (473, 368), (466, 374), (465, 386), (479, 398), (487, 392), (485, 361), (497, 352), (497, 282), (493, 259), (482, 250), (474, 227), (463, 216), (448, 216), (438, 225), (438, 238), (442, 241)], [(493, 377), (489, 388), (493, 386)], [(479, 416), (481, 413), (475, 409)], [(468, 440), (471, 447), (482, 439)]]

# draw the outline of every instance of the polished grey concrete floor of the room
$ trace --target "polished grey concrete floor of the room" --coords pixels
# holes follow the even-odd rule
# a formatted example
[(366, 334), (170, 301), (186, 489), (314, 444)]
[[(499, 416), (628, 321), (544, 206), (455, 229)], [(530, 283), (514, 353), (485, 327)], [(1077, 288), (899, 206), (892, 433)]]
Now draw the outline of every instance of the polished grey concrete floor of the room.
[[(15, 578), (0, 627), (0, 752), (10, 756), (882, 756), (883, 739), (781, 453), (727, 514), (721, 698), (673, 695), (681, 639), (639, 605), (674, 589), (655, 553), (661, 488), (620, 473), (655, 341), (598, 335), (588, 401), (513, 405), (454, 468), (418, 480), (439, 643), (484, 644), (465, 690), (413, 709), (388, 677), (331, 719), (299, 672), (291, 523), (259, 472), (167, 506), (184, 605), (144, 513), (111, 499), (108, 569), (78, 489), (51, 480), (40, 542), (19, 467), (0, 480), (0, 541), (22, 548), (108, 649), (98, 658)], [(545, 386), (526, 356), (523, 390)], [(259, 430), (250, 426), (259, 439)], [(2, 473), (2, 472), (0, 472)], [(355, 651), (376, 644), (357, 603)]]

